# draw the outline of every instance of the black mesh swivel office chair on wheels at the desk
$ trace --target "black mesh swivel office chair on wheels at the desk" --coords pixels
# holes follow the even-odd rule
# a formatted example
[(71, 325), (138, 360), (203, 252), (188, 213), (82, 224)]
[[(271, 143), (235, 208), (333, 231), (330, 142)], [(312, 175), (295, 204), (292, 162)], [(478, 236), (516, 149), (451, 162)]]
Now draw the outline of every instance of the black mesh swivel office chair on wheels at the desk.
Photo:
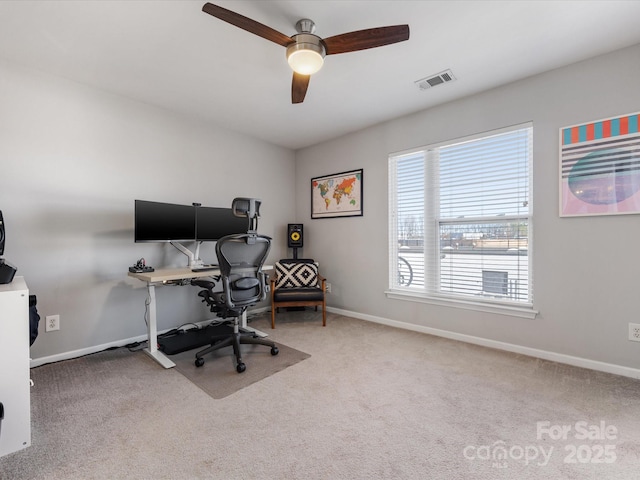
[(198, 293), (222, 318), (233, 318), (233, 333), (216, 335), (211, 338), (211, 345), (196, 353), (196, 367), (204, 365), (204, 355), (233, 346), (236, 356), (236, 370), (242, 373), (246, 365), (242, 361), (240, 345), (254, 344), (271, 347), (271, 355), (278, 354), (275, 343), (260, 338), (254, 333), (240, 331), (240, 318), (247, 307), (255, 305), (267, 297), (267, 275), (262, 266), (271, 248), (271, 238), (254, 232), (222, 237), (216, 243), (216, 255), (220, 267), (222, 291), (214, 292), (214, 283), (207, 280), (194, 279), (193, 285), (203, 287)]

